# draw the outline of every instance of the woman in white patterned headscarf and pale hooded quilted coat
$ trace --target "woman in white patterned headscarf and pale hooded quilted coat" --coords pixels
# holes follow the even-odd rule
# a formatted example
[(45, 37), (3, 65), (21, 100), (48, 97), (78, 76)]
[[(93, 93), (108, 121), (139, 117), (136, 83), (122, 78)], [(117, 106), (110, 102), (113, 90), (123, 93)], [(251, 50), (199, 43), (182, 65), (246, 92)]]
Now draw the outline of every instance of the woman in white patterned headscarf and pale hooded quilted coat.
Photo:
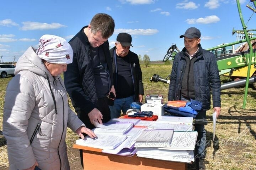
[(69, 43), (54, 35), (43, 35), (38, 49), (29, 47), (19, 58), (4, 104), (10, 170), (69, 170), (67, 127), (81, 138), (96, 137), (69, 108), (60, 74), (72, 59)]

